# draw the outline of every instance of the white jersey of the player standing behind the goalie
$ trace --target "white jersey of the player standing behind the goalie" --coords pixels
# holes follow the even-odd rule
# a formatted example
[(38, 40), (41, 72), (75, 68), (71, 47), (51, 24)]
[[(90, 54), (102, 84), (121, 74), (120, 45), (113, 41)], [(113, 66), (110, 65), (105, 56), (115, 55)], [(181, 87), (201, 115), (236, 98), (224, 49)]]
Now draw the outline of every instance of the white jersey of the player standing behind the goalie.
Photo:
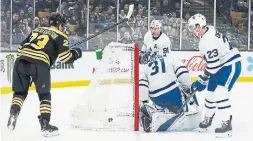
[(171, 41), (166, 34), (161, 33), (160, 37), (154, 39), (151, 31), (148, 31), (144, 36), (144, 44), (141, 51), (147, 51), (154, 46), (156, 46), (158, 50), (162, 50), (164, 54), (171, 52)]

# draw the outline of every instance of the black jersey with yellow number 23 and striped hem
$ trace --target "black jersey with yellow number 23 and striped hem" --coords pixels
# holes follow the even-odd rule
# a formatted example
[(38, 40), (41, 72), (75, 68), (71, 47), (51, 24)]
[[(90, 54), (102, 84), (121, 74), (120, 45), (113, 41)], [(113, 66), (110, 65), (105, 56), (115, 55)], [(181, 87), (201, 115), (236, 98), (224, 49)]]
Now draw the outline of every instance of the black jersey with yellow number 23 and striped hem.
[(69, 49), (68, 36), (56, 28), (34, 29), (19, 45), (18, 59), (51, 67), (56, 59), (63, 63), (74, 62)]

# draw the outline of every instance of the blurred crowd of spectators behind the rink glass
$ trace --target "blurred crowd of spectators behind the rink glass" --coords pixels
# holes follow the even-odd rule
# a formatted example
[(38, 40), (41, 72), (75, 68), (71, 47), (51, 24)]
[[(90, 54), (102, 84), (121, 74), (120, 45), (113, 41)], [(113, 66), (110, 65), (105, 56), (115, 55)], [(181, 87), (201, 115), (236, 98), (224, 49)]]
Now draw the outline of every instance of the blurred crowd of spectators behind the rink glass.
[[(182, 20), (180, 20), (181, 1)], [(213, 0), (204, 1), (207, 1), (209, 5), (213, 4)], [(199, 12), (194, 7), (205, 6), (201, 0), (151, 0), (150, 11), (148, 0), (119, 0), (119, 4), (117, 0), (89, 0), (89, 2), (88, 0), (13, 0), (12, 5), (10, 0), (1, 0), (1, 47), (10, 48), (10, 43), (12, 43), (13, 48), (14, 45), (21, 43), (32, 29), (48, 26), (48, 17), (55, 12), (66, 17), (66, 33), (69, 35), (70, 43), (75, 43), (115, 24), (117, 19), (118, 21), (124, 19), (131, 3), (135, 5), (135, 9), (130, 21), (121, 24), (118, 29), (115, 27), (90, 40), (89, 49), (94, 48), (92, 46), (95, 44), (105, 46), (112, 41), (135, 42), (142, 45), (143, 37), (148, 31), (148, 20), (151, 22), (153, 19), (162, 21), (162, 30), (172, 40), (173, 50), (179, 50), (182, 21), (182, 49), (197, 49), (198, 39), (188, 32), (187, 20), (191, 15)], [(217, 0), (217, 16), (221, 17), (224, 23), (231, 23), (231, 28), (226, 28), (225, 33), (231, 37), (231, 41), (236, 40), (233, 44), (236, 47), (239, 46), (238, 44), (247, 46), (248, 15), (250, 14), (248, 5), (248, 0)], [(231, 12), (241, 13), (236, 23), (233, 23)], [(150, 17), (148, 17), (149, 14)], [(253, 20), (251, 21), (251, 26), (253, 26)], [(242, 23), (242, 30), (238, 30)], [(212, 24), (212, 21), (208, 24)], [(89, 27), (88, 31), (87, 27)], [(11, 37), (10, 33), (12, 33)], [(253, 39), (253, 35), (251, 38)], [(82, 47), (87, 49), (86, 44), (82, 44)], [(253, 48), (252, 45), (251, 47)]]

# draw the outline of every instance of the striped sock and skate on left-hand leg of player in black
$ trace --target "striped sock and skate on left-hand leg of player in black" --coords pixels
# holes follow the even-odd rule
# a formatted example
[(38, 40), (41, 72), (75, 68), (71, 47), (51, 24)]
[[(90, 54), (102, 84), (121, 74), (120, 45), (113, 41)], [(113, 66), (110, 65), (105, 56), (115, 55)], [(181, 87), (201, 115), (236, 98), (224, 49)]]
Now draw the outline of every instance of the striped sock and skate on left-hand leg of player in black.
[(24, 99), (25, 98), (23, 98), (21, 95), (16, 94), (14, 94), (12, 98), (10, 117), (7, 123), (7, 128), (11, 131), (14, 130), (16, 127), (17, 118), (24, 103)]

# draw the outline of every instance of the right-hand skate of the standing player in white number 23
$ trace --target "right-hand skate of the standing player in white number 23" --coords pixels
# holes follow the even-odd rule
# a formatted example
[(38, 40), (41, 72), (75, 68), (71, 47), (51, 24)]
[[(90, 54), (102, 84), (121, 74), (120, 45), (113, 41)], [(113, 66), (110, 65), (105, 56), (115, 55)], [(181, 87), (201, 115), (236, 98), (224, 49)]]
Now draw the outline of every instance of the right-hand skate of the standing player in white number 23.
[(217, 138), (231, 137), (232, 131), (232, 115), (227, 121), (222, 121), (221, 127), (215, 129), (215, 136)]

